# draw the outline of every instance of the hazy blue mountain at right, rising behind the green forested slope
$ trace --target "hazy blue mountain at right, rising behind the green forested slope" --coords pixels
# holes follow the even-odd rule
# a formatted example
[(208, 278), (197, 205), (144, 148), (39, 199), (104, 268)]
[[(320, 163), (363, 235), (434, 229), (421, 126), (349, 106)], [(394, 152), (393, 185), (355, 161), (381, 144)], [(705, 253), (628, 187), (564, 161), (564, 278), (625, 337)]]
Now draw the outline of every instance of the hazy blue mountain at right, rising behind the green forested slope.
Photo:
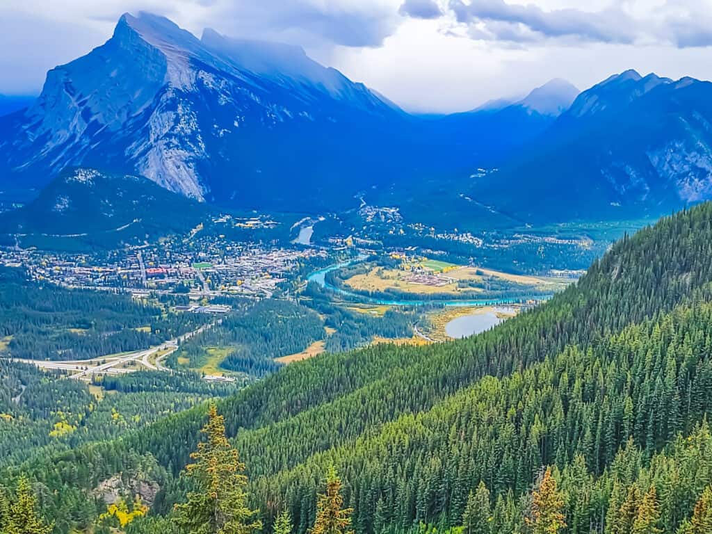
[(532, 220), (655, 216), (710, 199), (712, 84), (612, 76), (473, 189)]

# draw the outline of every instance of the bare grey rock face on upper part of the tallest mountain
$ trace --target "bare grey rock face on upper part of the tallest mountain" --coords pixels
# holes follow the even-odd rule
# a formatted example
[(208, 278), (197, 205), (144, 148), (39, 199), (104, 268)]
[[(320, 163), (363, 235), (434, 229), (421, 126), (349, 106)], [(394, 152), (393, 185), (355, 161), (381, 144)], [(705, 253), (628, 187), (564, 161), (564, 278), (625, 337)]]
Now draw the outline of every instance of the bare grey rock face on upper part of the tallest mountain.
[(399, 113), (300, 48), (211, 30), (199, 40), (168, 19), (125, 14), (107, 43), (51, 70), (36, 103), (0, 125), (0, 158), (39, 184), (66, 167), (108, 164), (202, 200), (216, 159), (248, 133)]

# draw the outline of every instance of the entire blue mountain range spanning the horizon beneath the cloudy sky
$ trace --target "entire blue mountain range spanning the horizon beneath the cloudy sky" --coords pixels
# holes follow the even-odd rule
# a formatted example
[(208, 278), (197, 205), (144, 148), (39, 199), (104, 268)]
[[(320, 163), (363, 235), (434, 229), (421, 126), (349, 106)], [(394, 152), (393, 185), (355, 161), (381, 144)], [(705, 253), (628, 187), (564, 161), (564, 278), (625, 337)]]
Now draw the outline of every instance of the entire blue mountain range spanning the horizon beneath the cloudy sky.
[(654, 216), (712, 197), (711, 89), (630, 70), (580, 94), (552, 80), (424, 117), (301, 48), (125, 14), (105, 44), (51, 70), (29, 108), (0, 117), (0, 183), (39, 189), (84, 166), (246, 209), (343, 211), (366, 197), (407, 211), (419, 197), (434, 205), (412, 211), (468, 198), (465, 218), (513, 224)]

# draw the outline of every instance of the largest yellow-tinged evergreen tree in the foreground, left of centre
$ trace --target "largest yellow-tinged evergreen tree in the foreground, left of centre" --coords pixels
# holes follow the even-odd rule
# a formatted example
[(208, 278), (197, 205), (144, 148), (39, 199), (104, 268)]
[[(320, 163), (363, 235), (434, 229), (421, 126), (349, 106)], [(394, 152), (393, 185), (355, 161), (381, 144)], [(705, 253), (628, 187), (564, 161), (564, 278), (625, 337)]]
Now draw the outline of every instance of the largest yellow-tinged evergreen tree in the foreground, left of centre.
[(175, 506), (178, 527), (189, 534), (251, 534), (261, 530), (256, 511), (247, 506), (245, 465), (225, 436), (225, 423), (215, 404), (208, 423), (201, 430), (207, 440), (190, 456), (194, 464), (186, 468), (194, 491), (188, 501)]

